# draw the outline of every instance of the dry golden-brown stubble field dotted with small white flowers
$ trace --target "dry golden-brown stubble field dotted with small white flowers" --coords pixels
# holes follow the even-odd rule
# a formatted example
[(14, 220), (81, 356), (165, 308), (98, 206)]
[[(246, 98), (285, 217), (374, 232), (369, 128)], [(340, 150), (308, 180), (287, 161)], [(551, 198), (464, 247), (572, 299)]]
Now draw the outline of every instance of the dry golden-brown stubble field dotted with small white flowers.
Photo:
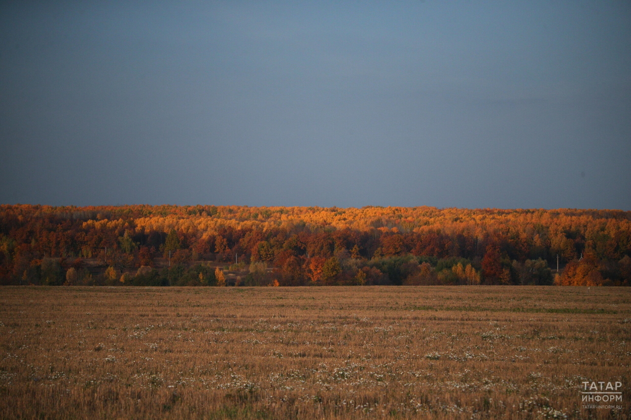
[[(0, 417), (628, 418), (630, 303), (623, 288), (4, 287)], [(583, 381), (622, 382), (621, 408), (584, 409)]]

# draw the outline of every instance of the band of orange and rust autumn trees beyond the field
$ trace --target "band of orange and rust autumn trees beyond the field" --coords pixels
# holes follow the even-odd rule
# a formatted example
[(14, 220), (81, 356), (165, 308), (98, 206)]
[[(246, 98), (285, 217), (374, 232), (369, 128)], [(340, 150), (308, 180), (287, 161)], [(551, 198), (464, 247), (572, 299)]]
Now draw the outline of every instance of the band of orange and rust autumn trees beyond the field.
[(630, 255), (625, 211), (0, 206), (2, 284), (627, 286)]

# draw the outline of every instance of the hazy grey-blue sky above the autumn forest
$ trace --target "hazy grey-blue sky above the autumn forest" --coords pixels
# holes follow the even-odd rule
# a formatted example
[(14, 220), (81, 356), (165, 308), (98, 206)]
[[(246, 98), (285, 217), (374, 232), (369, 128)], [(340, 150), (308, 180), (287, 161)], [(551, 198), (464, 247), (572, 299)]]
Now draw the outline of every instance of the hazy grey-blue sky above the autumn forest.
[(631, 210), (629, 1), (3, 1), (0, 203)]

